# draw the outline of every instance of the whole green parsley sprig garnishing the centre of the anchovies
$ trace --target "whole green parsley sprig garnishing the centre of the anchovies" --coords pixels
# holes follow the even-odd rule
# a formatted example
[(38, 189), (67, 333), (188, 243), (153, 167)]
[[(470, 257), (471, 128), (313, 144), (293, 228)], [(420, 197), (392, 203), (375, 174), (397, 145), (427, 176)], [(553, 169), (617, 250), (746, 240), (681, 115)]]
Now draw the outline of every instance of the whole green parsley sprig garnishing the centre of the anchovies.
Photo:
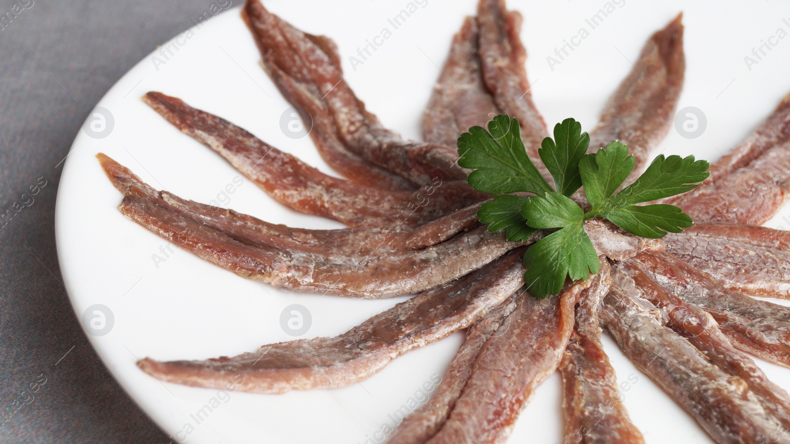
[[(554, 188), (532, 164), (519, 132), (518, 121), (507, 115), (496, 116), (488, 130), (472, 126), (458, 138), (458, 165), (474, 170), (468, 176), (472, 188), (496, 195), (477, 213), (488, 231), (506, 230), (508, 240), (523, 242), (538, 230), (551, 230), (524, 255), (524, 279), (533, 296), (558, 294), (566, 277), (587, 280), (590, 273), (598, 273), (600, 264), (585, 233), (585, 220), (602, 217), (651, 239), (693, 223), (675, 205), (638, 204), (694, 190), (709, 175), (707, 161), (662, 154), (634, 183), (617, 192), (634, 170), (628, 147), (612, 141), (588, 154), (589, 135), (581, 132), (581, 123), (565, 119), (554, 127), (554, 138), (546, 137), (538, 149)], [(586, 212), (570, 198), (580, 188), (589, 201)]]

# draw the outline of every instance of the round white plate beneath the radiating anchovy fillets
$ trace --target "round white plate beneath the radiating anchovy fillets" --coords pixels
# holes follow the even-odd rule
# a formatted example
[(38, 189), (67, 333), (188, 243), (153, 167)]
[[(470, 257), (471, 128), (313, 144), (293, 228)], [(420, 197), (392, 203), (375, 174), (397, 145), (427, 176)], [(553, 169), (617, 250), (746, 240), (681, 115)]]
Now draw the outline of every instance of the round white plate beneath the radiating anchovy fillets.
[[(707, 118), (701, 137), (671, 131), (660, 150), (715, 160), (742, 139), (790, 91), (790, 38), (747, 68), (744, 57), (769, 41), (778, 28), (790, 31), (790, 9), (781, 2), (749, 8), (719, 2), (526, 2), (509, 6), (525, 16), (522, 39), (529, 51), (532, 95), (547, 122), (573, 116), (589, 130), (604, 100), (631, 69), (648, 36), (683, 9), (687, 26), (686, 88), (679, 107), (698, 107)], [(227, 2), (224, 2), (227, 4)], [(308, 32), (331, 36), (340, 46), (346, 79), (382, 122), (405, 137), (419, 138), (423, 106), (438, 78), (450, 38), (475, 2), (416, 2), (416, 12), (383, 40), (362, 64), (349, 56), (393, 25), (388, 19), (408, 6), (399, 2), (270, 1), (266, 6)], [(612, 11), (596, 28), (585, 19), (600, 8)], [(619, 6), (618, 6), (619, 5)], [(306, 13), (307, 12), (307, 13)], [(209, 13), (210, 15), (210, 13)], [(547, 56), (589, 31), (553, 70)], [(382, 41), (382, 40), (378, 40)], [(312, 314), (302, 337), (333, 336), (403, 298), (383, 301), (283, 292), (236, 277), (123, 217), (121, 196), (107, 181), (97, 152), (130, 167), (146, 182), (183, 198), (218, 201), (271, 222), (305, 228), (339, 224), (305, 216), (277, 204), (246, 179), (224, 192), (239, 174), (219, 156), (186, 137), (139, 100), (149, 90), (243, 126), (272, 145), (334, 174), (309, 137), (280, 130), (290, 105), (259, 66), (250, 33), (233, 8), (176, 37), (134, 69), (98, 103), (112, 115), (105, 137), (81, 130), (66, 161), (57, 205), (58, 257), (77, 316), (102, 304), (114, 314), (104, 336), (89, 335), (111, 373), (173, 442), (381, 442), (393, 414), (408, 404), (423, 382), (442, 376), (461, 341), (446, 341), (408, 353), (356, 386), (284, 395), (218, 393), (162, 384), (135, 366), (138, 358), (199, 359), (232, 356), (261, 344), (294, 339), (280, 327), (280, 312), (292, 303)], [(93, 115), (88, 121), (98, 119)], [(100, 123), (95, 122), (101, 130)], [(107, 122), (107, 128), (109, 127)], [(93, 134), (94, 136), (96, 133)], [(225, 193), (225, 194), (223, 194)], [(784, 217), (784, 218), (783, 218)], [(784, 211), (773, 227), (790, 226)], [(168, 249), (172, 249), (172, 252)], [(156, 259), (156, 258), (159, 259)], [(92, 312), (92, 310), (91, 310)], [(607, 350), (621, 382), (625, 404), (649, 442), (706, 442), (705, 433), (620, 354)], [(790, 371), (760, 363), (774, 382), (790, 389)], [(521, 414), (511, 442), (561, 442), (557, 375), (537, 390)], [(422, 397), (422, 395), (419, 395)], [(213, 397), (218, 407), (205, 419), (196, 413)], [(220, 399), (222, 398), (222, 399)], [(186, 431), (190, 433), (187, 434)]]

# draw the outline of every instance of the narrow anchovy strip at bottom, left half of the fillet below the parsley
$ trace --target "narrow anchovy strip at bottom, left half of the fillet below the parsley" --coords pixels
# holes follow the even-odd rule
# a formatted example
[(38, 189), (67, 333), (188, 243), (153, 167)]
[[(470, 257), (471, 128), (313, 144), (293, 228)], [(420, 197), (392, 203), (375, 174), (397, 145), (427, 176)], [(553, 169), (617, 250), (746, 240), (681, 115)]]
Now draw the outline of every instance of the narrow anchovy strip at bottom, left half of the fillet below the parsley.
[(480, 350), (486, 341), (497, 333), (502, 323), (506, 322), (507, 316), (515, 309), (517, 300), (516, 297), (512, 297), (505, 303), (499, 304), (485, 318), (467, 329), (464, 343), (453, 357), (450, 368), (442, 378), (442, 383), (431, 395), (431, 399), (406, 416), (387, 444), (427, 442), (436, 435), (450, 417), (455, 401), (461, 396), (466, 382), (472, 376), (472, 366)]

